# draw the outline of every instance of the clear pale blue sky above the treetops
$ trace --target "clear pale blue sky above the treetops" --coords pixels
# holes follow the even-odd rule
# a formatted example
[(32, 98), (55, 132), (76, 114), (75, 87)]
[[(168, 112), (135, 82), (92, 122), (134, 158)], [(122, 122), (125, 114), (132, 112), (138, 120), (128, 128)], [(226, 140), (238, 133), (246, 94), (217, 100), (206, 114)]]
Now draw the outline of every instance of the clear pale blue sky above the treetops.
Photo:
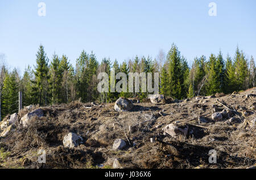
[[(46, 16), (38, 3), (46, 3)], [(209, 16), (210, 2), (217, 16)], [(193, 58), (221, 49), (224, 57), (238, 45), (256, 59), (255, 0), (0, 0), (0, 53), (21, 73), (35, 65), (42, 43), (49, 59), (66, 54), (75, 65), (84, 49), (98, 61), (119, 62), (135, 55), (155, 58), (174, 42), (189, 65)]]

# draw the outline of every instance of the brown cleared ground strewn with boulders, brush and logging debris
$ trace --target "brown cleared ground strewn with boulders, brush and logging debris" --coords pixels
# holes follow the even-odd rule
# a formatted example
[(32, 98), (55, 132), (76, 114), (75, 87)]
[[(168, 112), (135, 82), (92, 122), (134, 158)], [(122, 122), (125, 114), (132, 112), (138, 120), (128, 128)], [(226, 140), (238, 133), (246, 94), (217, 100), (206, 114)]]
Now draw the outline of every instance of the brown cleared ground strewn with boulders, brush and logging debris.
[(0, 122), (0, 168), (255, 167), (256, 88), (159, 102), (28, 106)]

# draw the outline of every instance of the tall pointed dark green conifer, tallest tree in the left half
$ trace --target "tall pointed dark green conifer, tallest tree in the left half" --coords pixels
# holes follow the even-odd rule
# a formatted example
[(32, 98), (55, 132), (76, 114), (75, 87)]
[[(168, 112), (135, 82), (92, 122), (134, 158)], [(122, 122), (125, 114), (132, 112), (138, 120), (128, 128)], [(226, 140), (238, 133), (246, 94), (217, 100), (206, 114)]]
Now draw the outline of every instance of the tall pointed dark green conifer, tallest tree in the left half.
[(34, 96), (37, 98), (36, 103), (42, 105), (43, 102), (47, 104), (47, 87), (48, 87), (48, 61), (49, 59), (44, 52), (44, 46), (40, 45), (38, 53), (36, 54), (36, 67), (35, 67), (35, 81), (34, 82)]

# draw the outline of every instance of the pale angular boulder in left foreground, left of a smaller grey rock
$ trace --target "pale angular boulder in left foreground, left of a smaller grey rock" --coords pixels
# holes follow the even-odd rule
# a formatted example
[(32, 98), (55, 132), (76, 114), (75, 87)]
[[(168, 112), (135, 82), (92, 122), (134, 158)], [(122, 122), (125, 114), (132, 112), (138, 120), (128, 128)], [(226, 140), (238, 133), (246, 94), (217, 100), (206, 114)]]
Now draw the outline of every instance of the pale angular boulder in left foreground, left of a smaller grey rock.
[(81, 136), (73, 132), (69, 132), (69, 134), (64, 136), (63, 145), (66, 148), (74, 148), (77, 147), (83, 141)]

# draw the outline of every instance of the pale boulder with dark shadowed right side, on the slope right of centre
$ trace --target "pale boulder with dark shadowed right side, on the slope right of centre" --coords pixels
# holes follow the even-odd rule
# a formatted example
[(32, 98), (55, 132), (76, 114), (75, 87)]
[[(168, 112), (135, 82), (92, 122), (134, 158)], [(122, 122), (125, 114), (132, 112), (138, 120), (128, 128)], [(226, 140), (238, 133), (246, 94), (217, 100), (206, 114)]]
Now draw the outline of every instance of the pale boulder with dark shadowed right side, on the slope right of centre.
[(188, 126), (183, 127), (179, 125), (175, 125), (173, 123), (167, 125), (166, 127), (163, 128), (164, 134), (168, 134), (172, 137), (175, 137), (177, 135), (188, 135)]

